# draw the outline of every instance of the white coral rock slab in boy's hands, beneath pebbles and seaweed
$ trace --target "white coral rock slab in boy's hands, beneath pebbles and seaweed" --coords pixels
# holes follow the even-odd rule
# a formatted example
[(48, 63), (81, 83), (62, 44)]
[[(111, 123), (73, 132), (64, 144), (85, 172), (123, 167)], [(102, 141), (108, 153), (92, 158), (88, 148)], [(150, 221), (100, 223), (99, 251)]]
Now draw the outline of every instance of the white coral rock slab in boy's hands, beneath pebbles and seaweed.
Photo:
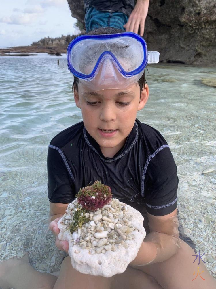
[[(77, 201), (77, 199), (75, 199), (71, 204), (73, 204), (75, 201)], [(71, 204), (69, 204), (69, 206), (71, 206)], [(125, 205), (125, 204), (121, 203), (121, 205)], [(78, 246), (77, 243), (74, 244), (72, 242), (73, 237), (70, 231), (69, 230), (65, 231), (65, 229), (63, 229), (62, 227), (62, 223), (60, 223), (62, 222), (62, 218), (58, 221), (58, 227), (60, 229), (60, 233), (58, 234), (58, 239), (69, 242), (68, 253), (71, 257), (71, 264), (73, 268), (75, 268), (77, 271), (84, 273), (84, 274), (91, 274), (91, 275), (96, 275), (96, 276), (100, 275), (103, 277), (112, 277), (113, 275), (121, 274), (126, 270), (128, 264), (132, 260), (134, 260), (134, 258), (137, 256), (137, 253), (143, 242), (143, 239), (145, 238), (146, 233), (143, 227), (143, 216), (141, 215), (141, 213), (129, 205), (125, 205), (125, 206), (127, 206), (127, 209), (128, 209), (127, 214), (132, 216), (130, 220), (131, 225), (134, 228), (136, 228), (138, 231), (132, 232), (132, 234), (134, 235), (134, 240), (125, 241), (125, 243), (128, 245), (128, 246), (125, 246), (127, 248), (125, 248), (124, 246), (117, 245), (115, 251), (107, 250), (111, 246), (105, 245), (105, 247), (104, 246), (96, 247), (97, 248), (95, 250), (96, 253), (90, 254), (88, 249), (82, 249), (80, 246)], [(112, 207), (109, 207), (109, 208), (113, 209)], [(113, 209), (112, 211), (114, 212), (115, 210)], [(102, 219), (102, 216), (100, 216), (100, 218)], [(94, 219), (94, 221), (96, 222), (97, 220)], [(105, 231), (97, 232), (95, 234), (101, 234), (104, 232)], [(107, 234), (108, 233), (109, 232), (107, 231)], [(73, 236), (76, 237), (78, 236), (78, 234), (76, 235), (73, 233)], [(103, 249), (103, 247), (105, 249)]]

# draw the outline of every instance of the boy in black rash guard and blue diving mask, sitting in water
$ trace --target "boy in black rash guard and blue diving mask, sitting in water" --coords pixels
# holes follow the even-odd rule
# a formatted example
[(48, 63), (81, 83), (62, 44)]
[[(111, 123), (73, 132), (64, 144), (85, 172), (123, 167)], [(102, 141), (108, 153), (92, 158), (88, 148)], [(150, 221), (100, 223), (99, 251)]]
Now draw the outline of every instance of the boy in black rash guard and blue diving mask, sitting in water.
[[(83, 121), (55, 136), (48, 150), (50, 229), (58, 234), (57, 222), (79, 189), (101, 180), (114, 198), (143, 214), (147, 236), (128, 269), (112, 278), (79, 273), (66, 257), (54, 288), (203, 288), (192, 282), (194, 251), (179, 239), (173, 156), (163, 136), (136, 118), (149, 96), (145, 43), (109, 27), (87, 35), (68, 48)], [(56, 238), (56, 246), (68, 251), (66, 241)], [(215, 288), (204, 265), (199, 268), (205, 288)]]

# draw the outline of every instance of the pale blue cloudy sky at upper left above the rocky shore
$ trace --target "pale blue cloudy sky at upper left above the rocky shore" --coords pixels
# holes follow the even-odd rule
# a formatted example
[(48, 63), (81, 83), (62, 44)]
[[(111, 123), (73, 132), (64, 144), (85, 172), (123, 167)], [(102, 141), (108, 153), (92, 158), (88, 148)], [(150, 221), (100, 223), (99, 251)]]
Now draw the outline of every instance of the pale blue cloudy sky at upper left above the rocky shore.
[(67, 0), (7, 0), (1, 2), (0, 48), (31, 45), (41, 38), (77, 34)]

